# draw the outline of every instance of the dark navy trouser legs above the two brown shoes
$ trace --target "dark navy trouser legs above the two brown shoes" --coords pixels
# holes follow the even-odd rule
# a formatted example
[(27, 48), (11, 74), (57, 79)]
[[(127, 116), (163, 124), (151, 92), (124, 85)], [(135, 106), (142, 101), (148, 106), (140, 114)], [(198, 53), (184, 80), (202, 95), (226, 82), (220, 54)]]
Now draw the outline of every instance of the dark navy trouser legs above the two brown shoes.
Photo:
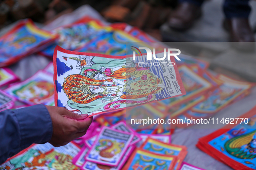
[[(179, 0), (201, 6), (204, 0)], [(227, 18), (248, 18), (251, 12), (249, 0), (225, 0), (223, 10)]]

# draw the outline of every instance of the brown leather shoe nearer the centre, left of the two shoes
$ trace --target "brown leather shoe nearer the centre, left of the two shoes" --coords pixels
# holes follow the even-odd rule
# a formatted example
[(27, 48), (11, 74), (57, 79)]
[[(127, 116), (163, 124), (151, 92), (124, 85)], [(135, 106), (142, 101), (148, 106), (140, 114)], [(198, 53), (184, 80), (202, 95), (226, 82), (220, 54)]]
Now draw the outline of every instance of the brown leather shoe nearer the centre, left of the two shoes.
[(200, 6), (192, 3), (180, 3), (173, 11), (169, 19), (169, 27), (177, 31), (185, 31), (191, 28), (196, 21), (200, 18), (202, 11)]

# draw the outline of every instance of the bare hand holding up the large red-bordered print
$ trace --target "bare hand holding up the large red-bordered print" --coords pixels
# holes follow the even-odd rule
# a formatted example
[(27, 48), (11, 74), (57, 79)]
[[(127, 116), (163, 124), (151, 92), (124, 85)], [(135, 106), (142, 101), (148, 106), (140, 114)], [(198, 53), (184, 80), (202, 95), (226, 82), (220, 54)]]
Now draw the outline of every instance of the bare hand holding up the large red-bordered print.
[(45, 106), (52, 118), (52, 139), (49, 141), (55, 147), (67, 145), (74, 139), (86, 134), (91, 125), (92, 117), (79, 115), (64, 107)]

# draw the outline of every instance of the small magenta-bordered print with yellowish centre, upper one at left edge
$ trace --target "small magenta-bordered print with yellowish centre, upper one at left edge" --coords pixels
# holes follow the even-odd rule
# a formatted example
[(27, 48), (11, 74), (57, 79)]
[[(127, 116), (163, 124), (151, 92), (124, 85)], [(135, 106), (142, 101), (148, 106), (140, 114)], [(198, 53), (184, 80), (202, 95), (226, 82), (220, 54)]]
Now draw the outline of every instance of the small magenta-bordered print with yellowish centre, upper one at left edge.
[(18, 81), (19, 78), (9, 68), (0, 68), (0, 86)]

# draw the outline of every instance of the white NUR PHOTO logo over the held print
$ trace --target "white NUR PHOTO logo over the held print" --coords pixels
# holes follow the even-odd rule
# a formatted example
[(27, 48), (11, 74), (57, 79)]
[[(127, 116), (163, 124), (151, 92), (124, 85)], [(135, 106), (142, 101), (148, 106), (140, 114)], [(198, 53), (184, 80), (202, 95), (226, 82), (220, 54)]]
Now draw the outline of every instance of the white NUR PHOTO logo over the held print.
[[(153, 48), (153, 55), (152, 55), (152, 51), (148, 48), (148, 47), (134, 47), (134, 46), (131, 46), (132, 50), (135, 50), (133, 51), (133, 60), (136, 60), (136, 53), (139, 55), (139, 57), (142, 57), (142, 53), (139, 49), (144, 49), (146, 50), (146, 60), (147, 61), (152, 61), (152, 56), (153, 56), (153, 59), (154, 60), (157, 60), (157, 61), (166, 61), (166, 56), (167, 56), (167, 61), (170, 61), (170, 56), (174, 56), (178, 61), (180, 61), (181, 59), (179, 59), (178, 55), (181, 54), (181, 50), (177, 49), (177, 48), (168, 48), (166, 50), (166, 48), (164, 49), (164, 52), (163, 53), (158, 53), (158, 54), (163, 54), (163, 57), (162, 58), (159, 58), (159, 56), (156, 55), (156, 49)], [(178, 53), (172, 53), (172, 51), (177, 51)], [(138, 65), (151, 65), (151, 66), (160, 66), (160, 65), (168, 65), (168, 66), (174, 66), (175, 63), (173, 62), (151, 62), (151, 63), (147, 63), (147, 62), (138, 62)]]

